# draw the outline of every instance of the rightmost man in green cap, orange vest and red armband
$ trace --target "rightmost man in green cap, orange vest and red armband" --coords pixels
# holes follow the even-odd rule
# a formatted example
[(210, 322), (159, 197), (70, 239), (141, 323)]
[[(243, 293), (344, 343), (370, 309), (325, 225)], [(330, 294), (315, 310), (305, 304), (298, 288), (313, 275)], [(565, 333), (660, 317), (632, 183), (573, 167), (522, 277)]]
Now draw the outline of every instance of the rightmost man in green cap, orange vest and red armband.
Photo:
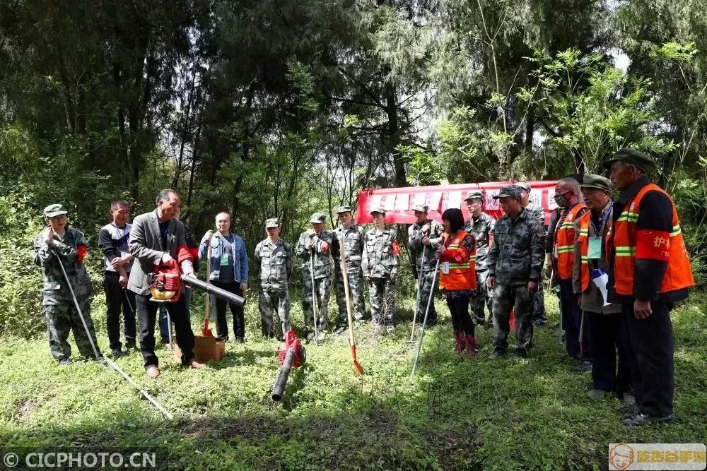
[(655, 162), (638, 150), (612, 157), (611, 180), (621, 196), (607, 235), (609, 302), (621, 303), (631, 355), (636, 405), (624, 423), (640, 426), (672, 420), (673, 343), (670, 311), (694, 285), (675, 205), (645, 174)]

